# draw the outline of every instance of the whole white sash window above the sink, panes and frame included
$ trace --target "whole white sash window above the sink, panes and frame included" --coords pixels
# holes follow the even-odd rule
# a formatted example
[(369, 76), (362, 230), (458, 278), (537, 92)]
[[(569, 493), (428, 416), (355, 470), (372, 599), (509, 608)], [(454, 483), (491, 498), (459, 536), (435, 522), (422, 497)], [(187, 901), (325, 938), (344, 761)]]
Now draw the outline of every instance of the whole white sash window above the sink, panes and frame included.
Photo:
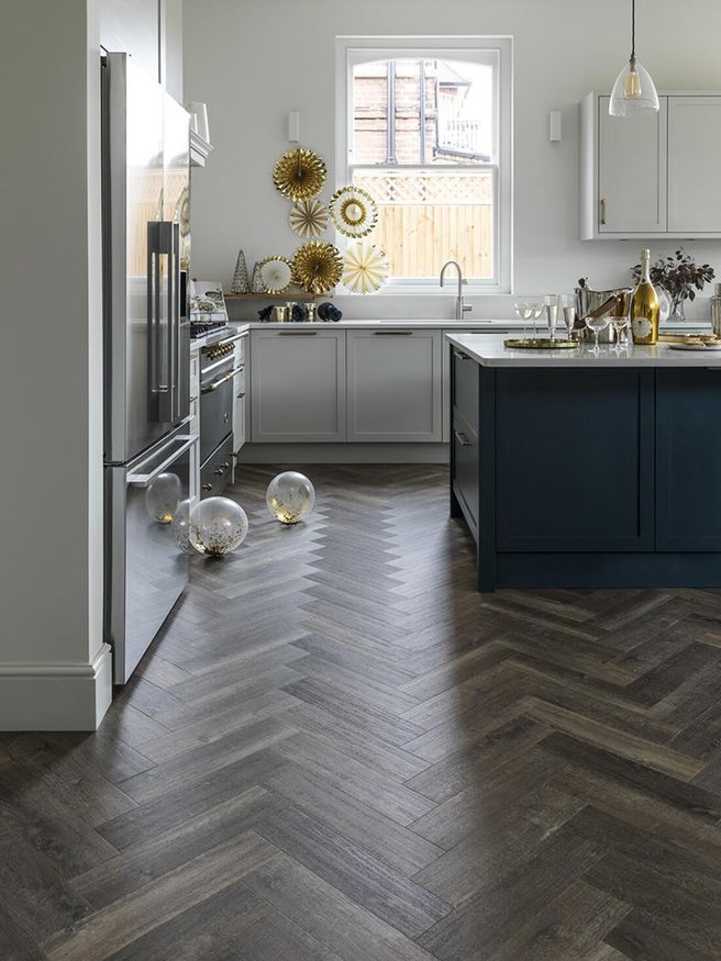
[(390, 290), (454, 259), (467, 292), (510, 292), (510, 38), (340, 37), (337, 66), (339, 186), (378, 204)]

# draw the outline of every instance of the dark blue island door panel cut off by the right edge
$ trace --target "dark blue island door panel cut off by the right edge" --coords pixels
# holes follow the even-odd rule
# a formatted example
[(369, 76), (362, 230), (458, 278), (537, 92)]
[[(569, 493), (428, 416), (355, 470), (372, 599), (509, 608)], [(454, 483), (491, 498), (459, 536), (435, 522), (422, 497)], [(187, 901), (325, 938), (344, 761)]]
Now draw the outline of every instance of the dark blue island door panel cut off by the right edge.
[(656, 550), (721, 550), (721, 370), (656, 371)]

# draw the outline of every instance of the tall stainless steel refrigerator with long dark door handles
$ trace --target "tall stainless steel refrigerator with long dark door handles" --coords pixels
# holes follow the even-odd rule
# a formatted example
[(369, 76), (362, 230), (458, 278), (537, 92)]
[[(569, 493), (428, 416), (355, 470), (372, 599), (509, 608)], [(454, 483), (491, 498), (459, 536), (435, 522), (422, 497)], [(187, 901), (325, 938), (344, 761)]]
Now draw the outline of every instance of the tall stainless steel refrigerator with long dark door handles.
[[(102, 65), (104, 630), (124, 684), (188, 579), (189, 118), (127, 54)], [(181, 264), (181, 261), (186, 261)]]

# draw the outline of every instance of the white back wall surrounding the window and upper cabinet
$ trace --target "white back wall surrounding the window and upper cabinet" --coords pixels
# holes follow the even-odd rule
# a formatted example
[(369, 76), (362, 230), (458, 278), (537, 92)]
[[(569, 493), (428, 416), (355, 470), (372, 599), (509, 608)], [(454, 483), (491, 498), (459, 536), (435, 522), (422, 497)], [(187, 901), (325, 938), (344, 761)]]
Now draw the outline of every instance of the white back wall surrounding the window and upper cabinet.
[[(510, 34), (514, 38), (514, 291), (629, 281), (633, 242), (578, 239), (578, 102), (609, 90), (629, 56), (630, 0), (184, 0), (185, 96), (208, 102), (215, 150), (193, 175), (193, 273), (230, 284), (239, 247), (290, 255), (298, 238), (270, 171), (301, 111), (303, 145), (334, 182), (336, 35)], [(719, 0), (639, 0), (639, 57), (662, 89), (721, 90)], [(562, 144), (547, 111), (563, 111)], [(633, 158), (629, 158), (633, 163)], [(652, 245), (652, 254), (674, 242)], [(721, 273), (721, 242), (687, 249)], [(712, 291), (707, 291), (711, 293)], [(450, 316), (450, 297), (339, 298), (353, 316)], [(512, 298), (477, 299), (472, 316), (511, 316)], [(253, 308), (244, 304), (249, 316)], [(708, 301), (694, 313), (708, 312)], [(691, 315), (691, 311), (689, 311)]]

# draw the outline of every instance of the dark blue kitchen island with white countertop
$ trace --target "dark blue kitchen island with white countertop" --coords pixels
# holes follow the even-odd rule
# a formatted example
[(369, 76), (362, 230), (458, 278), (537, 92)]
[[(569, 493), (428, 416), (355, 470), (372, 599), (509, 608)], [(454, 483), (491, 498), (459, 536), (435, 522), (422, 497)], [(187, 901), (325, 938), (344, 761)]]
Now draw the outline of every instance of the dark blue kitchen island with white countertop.
[(721, 586), (721, 351), (446, 334), (478, 589)]

